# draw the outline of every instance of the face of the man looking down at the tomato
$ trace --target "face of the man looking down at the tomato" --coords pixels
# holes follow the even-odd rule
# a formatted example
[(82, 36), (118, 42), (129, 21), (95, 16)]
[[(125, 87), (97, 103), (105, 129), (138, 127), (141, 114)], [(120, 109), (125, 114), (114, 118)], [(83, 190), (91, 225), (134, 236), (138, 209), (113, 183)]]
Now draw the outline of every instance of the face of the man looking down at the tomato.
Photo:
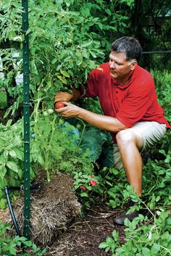
[(125, 80), (127, 77), (129, 78), (133, 72), (135, 68), (133, 62), (126, 60), (125, 52), (111, 51), (109, 54), (110, 75), (119, 83), (122, 82), (122, 80)]

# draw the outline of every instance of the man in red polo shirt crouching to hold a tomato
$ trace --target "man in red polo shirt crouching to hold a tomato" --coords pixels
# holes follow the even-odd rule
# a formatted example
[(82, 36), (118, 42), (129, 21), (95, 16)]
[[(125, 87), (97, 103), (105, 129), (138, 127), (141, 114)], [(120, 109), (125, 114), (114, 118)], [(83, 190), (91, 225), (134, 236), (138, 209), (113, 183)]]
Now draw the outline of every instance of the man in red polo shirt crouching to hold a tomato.
[[(80, 91), (59, 92), (55, 102), (65, 107), (56, 110), (62, 117), (80, 117), (87, 123), (109, 131), (114, 141), (115, 168), (125, 169), (128, 182), (142, 196), (141, 152), (161, 140), (170, 127), (164, 110), (157, 102), (151, 74), (138, 66), (141, 45), (135, 38), (124, 36), (114, 41), (109, 62), (91, 71), (84, 96), (98, 96), (104, 115), (84, 110), (69, 101), (80, 98)], [(138, 212), (122, 215), (114, 223), (122, 225)]]

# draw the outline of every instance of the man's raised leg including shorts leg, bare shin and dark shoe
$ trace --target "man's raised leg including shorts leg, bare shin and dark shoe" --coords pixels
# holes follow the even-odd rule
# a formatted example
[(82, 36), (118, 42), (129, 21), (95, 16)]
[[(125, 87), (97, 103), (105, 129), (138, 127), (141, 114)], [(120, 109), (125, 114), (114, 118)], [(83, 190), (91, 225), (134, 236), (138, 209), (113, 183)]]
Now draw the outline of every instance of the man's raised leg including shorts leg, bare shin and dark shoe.
[[(135, 192), (141, 197), (142, 193), (142, 160), (140, 149), (144, 150), (160, 141), (166, 133), (166, 125), (157, 122), (136, 123), (133, 128), (117, 133), (117, 146), (120, 149), (122, 164), (128, 181)], [(141, 211), (122, 214), (114, 220), (116, 225), (124, 225), (124, 220), (133, 220)], [(148, 210), (143, 215), (150, 216)]]

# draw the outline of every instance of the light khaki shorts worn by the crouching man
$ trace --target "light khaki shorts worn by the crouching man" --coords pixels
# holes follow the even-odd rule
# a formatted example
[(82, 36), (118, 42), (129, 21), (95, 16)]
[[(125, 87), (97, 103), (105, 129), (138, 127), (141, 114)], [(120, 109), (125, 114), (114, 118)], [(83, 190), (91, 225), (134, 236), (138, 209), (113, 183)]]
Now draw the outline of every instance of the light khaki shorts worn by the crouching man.
[[(157, 144), (167, 131), (164, 123), (157, 122), (138, 122), (130, 129), (137, 130), (143, 137), (143, 148), (141, 152)], [(122, 168), (120, 150), (117, 144), (114, 144), (114, 168)]]

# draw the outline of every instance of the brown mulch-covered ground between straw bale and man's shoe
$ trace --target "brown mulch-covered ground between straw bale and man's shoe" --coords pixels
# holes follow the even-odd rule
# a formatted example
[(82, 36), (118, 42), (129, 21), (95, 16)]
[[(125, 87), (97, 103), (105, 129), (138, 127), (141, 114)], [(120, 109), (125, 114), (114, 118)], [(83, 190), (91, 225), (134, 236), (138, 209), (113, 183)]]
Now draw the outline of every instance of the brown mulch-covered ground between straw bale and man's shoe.
[(120, 232), (120, 240), (124, 241), (123, 228), (113, 225), (116, 212), (105, 205), (93, 205), (83, 219), (75, 219), (59, 239), (47, 247), (46, 256), (107, 256), (109, 252), (99, 249), (99, 244), (112, 231)]

